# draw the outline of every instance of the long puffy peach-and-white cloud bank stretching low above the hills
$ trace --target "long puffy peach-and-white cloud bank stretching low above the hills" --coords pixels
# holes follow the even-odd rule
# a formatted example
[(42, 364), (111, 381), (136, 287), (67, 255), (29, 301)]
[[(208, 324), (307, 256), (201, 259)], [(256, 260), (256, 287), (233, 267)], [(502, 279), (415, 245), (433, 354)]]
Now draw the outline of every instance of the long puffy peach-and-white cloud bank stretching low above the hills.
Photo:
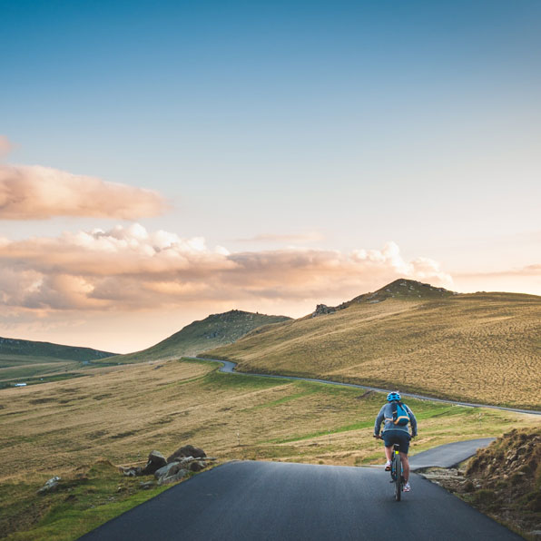
[(57, 238), (0, 239), (0, 302), (25, 310), (140, 310), (252, 300), (336, 302), (398, 277), (449, 287), (428, 258), (381, 250), (230, 253), (139, 224)]

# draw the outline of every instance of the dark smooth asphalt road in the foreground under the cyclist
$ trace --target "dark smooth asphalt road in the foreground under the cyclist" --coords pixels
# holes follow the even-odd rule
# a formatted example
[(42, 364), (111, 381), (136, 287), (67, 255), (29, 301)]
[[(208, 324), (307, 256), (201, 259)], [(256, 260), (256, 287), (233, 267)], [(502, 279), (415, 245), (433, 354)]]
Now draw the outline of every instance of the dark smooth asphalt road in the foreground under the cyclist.
[(369, 467), (230, 462), (176, 485), (83, 536), (84, 541), (520, 540), (412, 474), (393, 497)]

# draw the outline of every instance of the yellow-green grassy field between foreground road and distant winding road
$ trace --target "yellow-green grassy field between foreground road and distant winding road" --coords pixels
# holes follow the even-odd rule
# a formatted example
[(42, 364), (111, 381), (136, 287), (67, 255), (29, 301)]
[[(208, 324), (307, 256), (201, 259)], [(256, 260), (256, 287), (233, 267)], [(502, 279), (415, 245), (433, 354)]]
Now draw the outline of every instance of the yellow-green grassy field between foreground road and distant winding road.
[[(0, 532), (9, 539), (81, 536), (150, 496), (109, 461), (141, 464), (152, 449), (167, 456), (192, 443), (221, 461), (381, 462), (371, 434), (383, 395), (215, 369), (171, 360), (0, 391)], [(419, 422), (412, 453), (539, 420), (421, 400), (408, 404)], [(54, 475), (63, 477), (63, 491), (35, 496)], [(25, 532), (16, 534), (16, 528)]]

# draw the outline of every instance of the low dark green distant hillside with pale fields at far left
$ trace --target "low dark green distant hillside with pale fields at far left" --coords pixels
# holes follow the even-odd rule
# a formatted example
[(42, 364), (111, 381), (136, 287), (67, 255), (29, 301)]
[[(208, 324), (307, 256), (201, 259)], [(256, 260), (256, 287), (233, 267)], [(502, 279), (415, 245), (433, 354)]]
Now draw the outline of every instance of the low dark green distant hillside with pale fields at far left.
[(111, 357), (99, 349), (0, 338), (0, 387), (16, 382), (65, 378), (83, 364)]

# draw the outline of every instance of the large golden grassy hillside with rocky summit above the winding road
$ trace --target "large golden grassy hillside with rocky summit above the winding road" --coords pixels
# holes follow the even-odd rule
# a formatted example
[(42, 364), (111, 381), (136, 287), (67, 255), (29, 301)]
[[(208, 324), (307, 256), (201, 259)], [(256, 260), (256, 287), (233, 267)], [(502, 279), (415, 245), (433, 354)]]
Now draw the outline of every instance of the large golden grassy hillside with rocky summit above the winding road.
[(541, 297), (396, 280), (202, 356), (239, 369), (541, 408)]

